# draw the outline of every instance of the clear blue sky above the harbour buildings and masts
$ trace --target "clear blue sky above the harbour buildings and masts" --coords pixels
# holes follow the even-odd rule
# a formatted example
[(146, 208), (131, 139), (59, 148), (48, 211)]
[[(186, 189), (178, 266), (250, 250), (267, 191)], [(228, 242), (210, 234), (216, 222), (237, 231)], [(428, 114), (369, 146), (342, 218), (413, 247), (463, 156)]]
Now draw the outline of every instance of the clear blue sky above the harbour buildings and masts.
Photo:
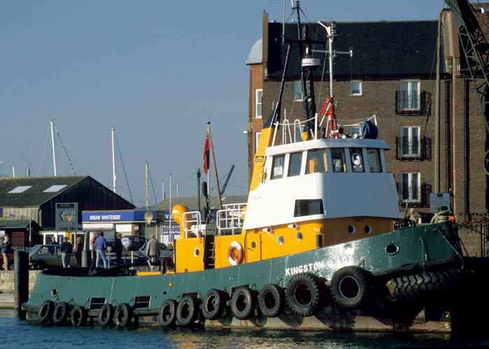
[[(442, 0), (302, 0), (302, 20), (437, 20)], [(117, 193), (145, 205), (196, 195), (210, 121), (219, 177), (235, 165), (227, 195), (247, 194), (251, 46), (263, 10), (282, 22), (281, 0), (0, 0), (0, 176), (89, 174), (112, 188), (110, 128)], [(286, 0), (286, 18), (291, 2)], [(341, 34), (341, 33), (340, 33)], [(63, 147), (64, 145), (64, 147)], [(65, 153), (68, 154), (68, 156)], [(68, 161), (69, 158), (69, 161)], [(73, 164), (71, 168), (70, 161)], [(127, 181), (125, 176), (127, 176)], [(211, 184), (214, 187), (214, 180)], [(212, 195), (217, 195), (215, 190)], [(156, 197), (156, 200), (155, 200)]]

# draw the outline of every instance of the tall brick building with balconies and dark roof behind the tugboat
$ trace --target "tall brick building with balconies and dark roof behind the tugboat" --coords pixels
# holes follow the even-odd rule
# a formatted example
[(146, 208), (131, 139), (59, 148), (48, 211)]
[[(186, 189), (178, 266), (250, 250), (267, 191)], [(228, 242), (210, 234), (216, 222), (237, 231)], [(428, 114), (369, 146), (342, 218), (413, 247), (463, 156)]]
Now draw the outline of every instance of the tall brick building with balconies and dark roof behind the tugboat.
[[(353, 51), (335, 57), (333, 94), (340, 125), (375, 115), (393, 172), (400, 211), (414, 208), (424, 222), (432, 217), (430, 193), (446, 193), (458, 222), (487, 230), (488, 175), (484, 156), (488, 137), (478, 94), (461, 56), (458, 29), (448, 10), (441, 13), (441, 78), (439, 98), (439, 191), (435, 188), (435, 87), (438, 21), (336, 23), (334, 49)], [(313, 50), (325, 50), (327, 34), (319, 24), (307, 23)], [(282, 23), (268, 22), (263, 13), (263, 37), (251, 48), (247, 65), (249, 84), (249, 178), (261, 128), (279, 96), (286, 45)], [(285, 24), (285, 38), (297, 37), (295, 23)], [(316, 108), (329, 97), (327, 59), (314, 70)], [(462, 57), (462, 59), (461, 59)], [(303, 119), (297, 45), (291, 46), (282, 98), (282, 118)], [(324, 67), (326, 61), (326, 68)], [(357, 127), (344, 127), (349, 134)], [(358, 193), (361, 195), (361, 193)], [(470, 255), (485, 255), (483, 237), (473, 230), (460, 236)]]

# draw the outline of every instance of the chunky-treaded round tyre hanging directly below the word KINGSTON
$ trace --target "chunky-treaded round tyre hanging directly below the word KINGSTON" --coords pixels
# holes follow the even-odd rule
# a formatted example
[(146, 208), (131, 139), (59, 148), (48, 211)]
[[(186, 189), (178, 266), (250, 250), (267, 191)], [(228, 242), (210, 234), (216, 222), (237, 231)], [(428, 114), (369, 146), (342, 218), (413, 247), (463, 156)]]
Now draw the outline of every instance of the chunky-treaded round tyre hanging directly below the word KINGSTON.
[(296, 274), (287, 283), (285, 299), (295, 315), (314, 315), (321, 305), (321, 281), (311, 273)]

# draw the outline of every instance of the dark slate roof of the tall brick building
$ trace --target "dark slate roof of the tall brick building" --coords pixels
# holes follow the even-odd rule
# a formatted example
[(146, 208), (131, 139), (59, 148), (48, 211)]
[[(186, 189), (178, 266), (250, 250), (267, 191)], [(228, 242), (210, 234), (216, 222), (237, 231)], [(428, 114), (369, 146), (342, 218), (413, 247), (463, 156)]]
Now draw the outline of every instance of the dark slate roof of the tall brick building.
[[(326, 30), (319, 24), (305, 24), (309, 40), (325, 42)], [(286, 39), (297, 38), (296, 24), (285, 26)], [(432, 72), (433, 54), (437, 43), (437, 21), (409, 22), (337, 22), (337, 35), (333, 49), (353, 50), (349, 55), (338, 54), (335, 59), (335, 76), (362, 77), (366, 75), (427, 75)], [(281, 45), (282, 24), (268, 23), (268, 77), (282, 77), (286, 45)], [(313, 50), (325, 50), (315, 44)], [(322, 53), (314, 57), (323, 58)], [(287, 77), (300, 75), (298, 45), (293, 44)], [(320, 76), (321, 66), (314, 70)], [(351, 63), (351, 65), (350, 65)], [(328, 71), (327, 67), (326, 70)]]

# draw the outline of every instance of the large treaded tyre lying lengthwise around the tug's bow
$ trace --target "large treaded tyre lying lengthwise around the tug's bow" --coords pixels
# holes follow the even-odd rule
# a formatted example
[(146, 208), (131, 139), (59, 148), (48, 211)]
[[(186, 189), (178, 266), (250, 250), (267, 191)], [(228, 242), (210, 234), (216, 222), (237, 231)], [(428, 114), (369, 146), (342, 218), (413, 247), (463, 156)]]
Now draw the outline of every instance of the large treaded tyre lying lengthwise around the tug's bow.
[(458, 283), (470, 276), (472, 272), (462, 269), (399, 276), (391, 279), (388, 289), (397, 299), (437, 295), (453, 290)]

